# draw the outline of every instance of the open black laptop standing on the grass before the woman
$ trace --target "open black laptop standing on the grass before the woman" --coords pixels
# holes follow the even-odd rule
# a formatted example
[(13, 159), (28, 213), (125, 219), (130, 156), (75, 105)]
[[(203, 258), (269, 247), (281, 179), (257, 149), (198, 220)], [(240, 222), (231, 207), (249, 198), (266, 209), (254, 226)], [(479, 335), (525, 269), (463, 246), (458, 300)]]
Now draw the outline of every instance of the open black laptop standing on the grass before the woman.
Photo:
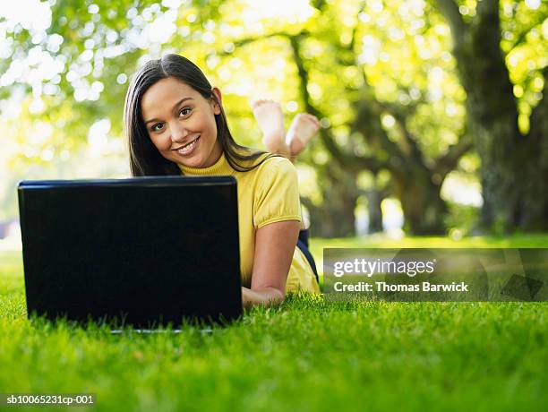
[(242, 313), (232, 176), (23, 181), (29, 315), (134, 328)]

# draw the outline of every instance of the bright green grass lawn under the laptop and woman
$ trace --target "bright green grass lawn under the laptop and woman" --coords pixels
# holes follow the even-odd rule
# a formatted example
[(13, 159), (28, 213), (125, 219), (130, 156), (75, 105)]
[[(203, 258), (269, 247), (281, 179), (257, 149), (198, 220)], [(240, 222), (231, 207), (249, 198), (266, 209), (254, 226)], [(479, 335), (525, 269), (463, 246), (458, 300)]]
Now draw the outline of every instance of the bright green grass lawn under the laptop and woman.
[[(458, 245), (313, 239), (313, 252), (438, 245), (545, 247), (548, 236)], [(326, 303), (304, 295), (212, 333), (187, 326), (111, 335), (31, 323), (21, 255), (0, 253), (0, 393), (95, 393), (93, 410), (540, 411), (548, 408), (547, 344), (545, 303)]]

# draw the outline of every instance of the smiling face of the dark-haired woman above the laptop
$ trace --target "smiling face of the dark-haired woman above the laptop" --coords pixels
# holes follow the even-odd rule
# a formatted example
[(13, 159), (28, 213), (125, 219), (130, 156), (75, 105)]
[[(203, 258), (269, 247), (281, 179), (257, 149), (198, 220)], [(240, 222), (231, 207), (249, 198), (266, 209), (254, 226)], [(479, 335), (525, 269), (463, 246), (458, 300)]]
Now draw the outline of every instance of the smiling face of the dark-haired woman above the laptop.
[[(213, 88), (220, 102), (220, 91)], [(220, 158), (215, 115), (220, 107), (184, 82), (168, 77), (141, 98), (142, 120), (150, 140), (167, 160), (186, 167), (210, 167)]]

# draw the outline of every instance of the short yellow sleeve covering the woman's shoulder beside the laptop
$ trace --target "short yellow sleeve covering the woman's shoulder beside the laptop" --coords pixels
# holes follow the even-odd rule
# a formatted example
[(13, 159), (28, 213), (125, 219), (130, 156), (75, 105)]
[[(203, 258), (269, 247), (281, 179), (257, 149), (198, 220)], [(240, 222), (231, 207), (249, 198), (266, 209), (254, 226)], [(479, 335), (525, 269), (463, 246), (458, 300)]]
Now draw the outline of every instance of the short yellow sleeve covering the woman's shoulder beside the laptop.
[(285, 158), (270, 158), (259, 167), (253, 200), (253, 226), (301, 221), (296, 169)]

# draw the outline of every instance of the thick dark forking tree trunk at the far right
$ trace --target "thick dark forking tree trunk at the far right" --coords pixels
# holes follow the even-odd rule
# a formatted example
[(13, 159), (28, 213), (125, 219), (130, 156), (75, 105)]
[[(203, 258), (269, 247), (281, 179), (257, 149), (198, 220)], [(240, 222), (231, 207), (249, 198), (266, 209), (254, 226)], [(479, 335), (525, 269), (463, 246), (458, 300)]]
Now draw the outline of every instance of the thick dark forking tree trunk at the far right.
[(499, 2), (477, 4), (466, 23), (453, 0), (439, 0), (450, 22), (460, 81), (467, 91), (467, 123), (482, 161), (482, 221), (495, 231), (548, 228), (548, 124), (544, 99), (531, 116), (531, 130), (518, 130), (518, 108), (501, 51)]

